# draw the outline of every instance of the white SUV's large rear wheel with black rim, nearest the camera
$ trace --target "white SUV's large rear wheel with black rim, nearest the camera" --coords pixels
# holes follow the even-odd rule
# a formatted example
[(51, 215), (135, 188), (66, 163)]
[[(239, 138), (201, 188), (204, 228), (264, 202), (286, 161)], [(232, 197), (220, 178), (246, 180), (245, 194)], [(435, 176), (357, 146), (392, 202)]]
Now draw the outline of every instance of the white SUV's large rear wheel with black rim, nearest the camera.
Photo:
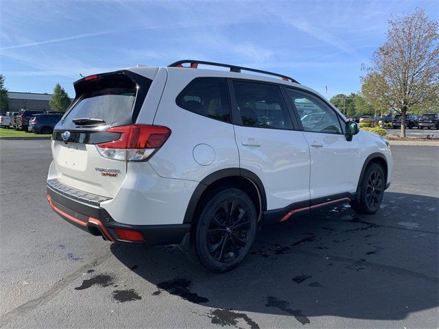
[(237, 267), (250, 252), (257, 232), (256, 208), (237, 188), (214, 191), (205, 199), (189, 256), (211, 272), (224, 273)]

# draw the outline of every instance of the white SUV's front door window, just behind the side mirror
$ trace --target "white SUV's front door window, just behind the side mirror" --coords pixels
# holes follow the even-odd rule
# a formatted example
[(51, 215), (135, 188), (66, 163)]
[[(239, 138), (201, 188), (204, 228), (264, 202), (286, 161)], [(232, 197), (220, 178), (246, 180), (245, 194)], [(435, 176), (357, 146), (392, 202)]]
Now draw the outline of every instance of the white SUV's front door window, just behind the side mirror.
[(324, 101), (309, 93), (287, 88), (289, 99), (296, 108), (305, 132), (342, 134), (339, 118)]

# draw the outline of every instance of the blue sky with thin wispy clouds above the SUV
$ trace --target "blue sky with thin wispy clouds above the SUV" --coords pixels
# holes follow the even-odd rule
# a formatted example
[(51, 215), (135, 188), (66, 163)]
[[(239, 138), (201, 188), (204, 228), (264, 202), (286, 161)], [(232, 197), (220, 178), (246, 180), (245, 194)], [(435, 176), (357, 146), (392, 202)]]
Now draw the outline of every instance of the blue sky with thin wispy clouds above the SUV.
[(10, 91), (74, 96), (82, 75), (179, 59), (274, 71), (324, 93), (357, 92), (391, 14), (439, 1), (0, 1), (0, 72)]

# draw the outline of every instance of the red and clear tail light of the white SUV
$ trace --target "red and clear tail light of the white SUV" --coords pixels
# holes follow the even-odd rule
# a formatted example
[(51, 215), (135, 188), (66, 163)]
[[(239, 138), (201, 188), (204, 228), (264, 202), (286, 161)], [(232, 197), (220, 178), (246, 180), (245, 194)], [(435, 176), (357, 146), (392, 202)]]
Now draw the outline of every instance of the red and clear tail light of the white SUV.
[(107, 132), (121, 136), (117, 141), (97, 144), (97, 151), (104, 158), (124, 161), (147, 160), (171, 136), (171, 130), (161, 125), (122, 125)]

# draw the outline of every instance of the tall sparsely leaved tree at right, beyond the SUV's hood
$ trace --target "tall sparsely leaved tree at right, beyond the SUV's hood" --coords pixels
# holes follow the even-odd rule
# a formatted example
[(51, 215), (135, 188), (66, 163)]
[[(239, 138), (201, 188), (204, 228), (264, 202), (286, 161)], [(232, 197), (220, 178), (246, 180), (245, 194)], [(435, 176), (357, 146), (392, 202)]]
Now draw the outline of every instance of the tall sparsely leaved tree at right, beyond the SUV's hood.
[[(438, 22), (424, 10), (392, 17), (387, 40), (373, 53), (361, 91), (372, 106), (401, 113), (437, 104), (439, 88)], [(405, 137), (405, 125), (401, 125)]]

